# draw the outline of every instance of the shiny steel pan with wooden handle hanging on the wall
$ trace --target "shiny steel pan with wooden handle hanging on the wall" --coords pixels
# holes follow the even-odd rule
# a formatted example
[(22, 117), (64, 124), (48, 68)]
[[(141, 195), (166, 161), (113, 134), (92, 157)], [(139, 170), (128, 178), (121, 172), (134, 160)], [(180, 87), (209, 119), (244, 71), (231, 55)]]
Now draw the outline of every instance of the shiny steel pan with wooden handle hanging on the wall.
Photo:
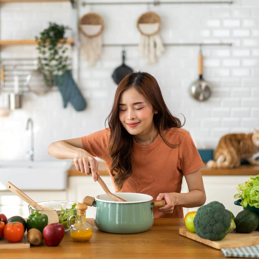
[(190, 94), (198, 101), (206, 101), (211, 96), (211, 86), (203, 79), (202, 51), (199, 53), (199, 79), (191, 83)]

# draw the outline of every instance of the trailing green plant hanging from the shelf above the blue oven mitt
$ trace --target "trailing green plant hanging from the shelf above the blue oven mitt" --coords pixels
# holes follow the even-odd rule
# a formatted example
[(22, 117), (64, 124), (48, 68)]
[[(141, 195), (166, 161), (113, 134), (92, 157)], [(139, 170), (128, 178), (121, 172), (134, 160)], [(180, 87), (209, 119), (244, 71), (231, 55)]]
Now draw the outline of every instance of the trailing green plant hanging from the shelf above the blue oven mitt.
[(66, 56), (68, 48), (65, 47), (67, 38), (64, 37), (66, 30), (70, 29), (69, 26), (49, 22), (48, 28), (40, 32), (40, 37), (35, 36), (39, 51), (38, 70), (48, 87), (53, 86), (55, 76), (70, 69), (69, 57)]

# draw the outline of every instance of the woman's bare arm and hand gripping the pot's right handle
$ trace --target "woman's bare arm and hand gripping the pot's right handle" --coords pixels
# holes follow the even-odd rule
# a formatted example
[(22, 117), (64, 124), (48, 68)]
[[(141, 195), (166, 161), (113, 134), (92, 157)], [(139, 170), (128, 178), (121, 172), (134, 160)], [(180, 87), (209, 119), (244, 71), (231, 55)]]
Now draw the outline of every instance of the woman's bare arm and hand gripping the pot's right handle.
[(164, 213), (172, 213), (174, 206), (179, 205), (185, 208), (202, 206), (206, 201), (200, 170), (185, 176), (188, 193), (160, 193), (156, 200), (164, 199), (166, 204), (158, 210)]

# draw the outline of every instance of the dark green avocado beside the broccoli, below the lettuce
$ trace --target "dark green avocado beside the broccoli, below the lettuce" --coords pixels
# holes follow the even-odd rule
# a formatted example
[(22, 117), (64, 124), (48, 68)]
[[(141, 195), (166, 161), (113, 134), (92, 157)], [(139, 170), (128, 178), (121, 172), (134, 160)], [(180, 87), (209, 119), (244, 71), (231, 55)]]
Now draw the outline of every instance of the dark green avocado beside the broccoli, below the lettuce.
[(259, 216), (254, 211), (243, 210), (236, 215), (235, 223), (236, 232), (250, 233), (257, 229), (259, 225)]

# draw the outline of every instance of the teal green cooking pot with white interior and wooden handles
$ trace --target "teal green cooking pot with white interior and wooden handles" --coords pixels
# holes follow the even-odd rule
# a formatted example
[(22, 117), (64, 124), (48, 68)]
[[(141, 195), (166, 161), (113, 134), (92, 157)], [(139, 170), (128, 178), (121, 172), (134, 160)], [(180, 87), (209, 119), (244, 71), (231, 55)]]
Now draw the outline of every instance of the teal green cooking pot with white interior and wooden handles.
[[(97, 195), (94, 223), (98, 229), (117, 234), (133, 234), (147, 231), (154, 222), (153, 207), (163, 207), (162, 203), (152, 202), (153, 197), (142, 193), (114, 193), (127, 202), (113, 201), (107, 194)], [(87, 204), (91, 205), (91, 204)]]

